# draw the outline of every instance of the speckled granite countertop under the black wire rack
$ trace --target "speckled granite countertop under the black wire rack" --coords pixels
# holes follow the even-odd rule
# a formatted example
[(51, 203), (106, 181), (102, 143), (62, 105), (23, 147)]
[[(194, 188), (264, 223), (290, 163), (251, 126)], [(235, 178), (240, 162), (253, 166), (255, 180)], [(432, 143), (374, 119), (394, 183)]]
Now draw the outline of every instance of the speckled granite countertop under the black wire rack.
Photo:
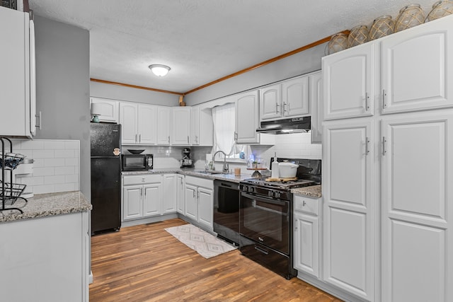
[(28, 202), (19, 198), (12, 206), (6, 208), (19, 208), (23, 211), (0, 211), (0, 223), (6, 221), (17, 221), (37, 217), (70, 214), (92, 209), (91, 204), (86, 200), (84, 194), (79, 191), (35, 194), (35, 197), (28, 198)]

